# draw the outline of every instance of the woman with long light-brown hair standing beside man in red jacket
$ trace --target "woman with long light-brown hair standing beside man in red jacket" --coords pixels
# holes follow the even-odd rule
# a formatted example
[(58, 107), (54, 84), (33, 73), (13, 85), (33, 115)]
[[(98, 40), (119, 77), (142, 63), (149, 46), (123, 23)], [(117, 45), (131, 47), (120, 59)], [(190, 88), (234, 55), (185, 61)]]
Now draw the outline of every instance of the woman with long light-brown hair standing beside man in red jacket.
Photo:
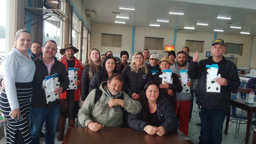
[(102, 61), (100, 60), (100, 51), (93, 48), (90, 51), (90, 59), (88, 64), (84, 66), (82, 78), (81, 78), (81, 100), (84, 102), (85, 98), (89, 94), (89, 84), (92, 76), (100, 71)]

